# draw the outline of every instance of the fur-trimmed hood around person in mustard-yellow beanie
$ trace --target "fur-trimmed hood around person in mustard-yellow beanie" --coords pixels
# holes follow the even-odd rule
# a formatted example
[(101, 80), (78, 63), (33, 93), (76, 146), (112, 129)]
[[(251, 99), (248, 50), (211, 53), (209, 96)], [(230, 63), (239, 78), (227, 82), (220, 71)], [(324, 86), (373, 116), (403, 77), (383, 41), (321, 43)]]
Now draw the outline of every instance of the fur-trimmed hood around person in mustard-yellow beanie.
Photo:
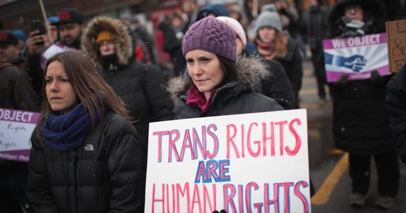
[(133, 39), (121, 20), (108, 16), (94, 17), (82, 37), (82, 50), (101, 68), (102, 62), (96, 49), (97, 34), (103, 30), (113, 33), (116, 40), (116, 54), (119, 65), (127, 65), (133, 56)]

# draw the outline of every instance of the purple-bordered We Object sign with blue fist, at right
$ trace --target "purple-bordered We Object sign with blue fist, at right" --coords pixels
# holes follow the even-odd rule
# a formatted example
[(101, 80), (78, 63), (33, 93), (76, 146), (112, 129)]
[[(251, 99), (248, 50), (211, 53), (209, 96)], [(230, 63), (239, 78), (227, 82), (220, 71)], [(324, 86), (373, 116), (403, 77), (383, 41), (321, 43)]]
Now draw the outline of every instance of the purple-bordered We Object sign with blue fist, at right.
[(385, 33), (324, 39), (323, 49), (328, 82), (342, 75), (349, 75), (349, 80), (369, 79), (374, 70), (381, 76), (391, 74)]

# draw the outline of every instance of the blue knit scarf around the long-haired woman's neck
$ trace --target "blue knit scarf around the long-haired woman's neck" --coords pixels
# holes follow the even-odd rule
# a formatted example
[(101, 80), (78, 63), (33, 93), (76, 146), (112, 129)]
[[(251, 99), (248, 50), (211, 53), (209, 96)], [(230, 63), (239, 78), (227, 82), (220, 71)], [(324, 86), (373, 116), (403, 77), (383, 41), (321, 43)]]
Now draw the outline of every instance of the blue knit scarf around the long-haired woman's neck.
[[(95, 114), (95, 124), (100, 118)], [(79, 103), (73, 111), (57, 115), (50, 113), (41, 130), (41, 136), (45, 144), (57, 151), (69, 151), (79, 147), (85, 141), (86, 135), (92, 130), (90, 113), (85, 113), (82, 103)]]

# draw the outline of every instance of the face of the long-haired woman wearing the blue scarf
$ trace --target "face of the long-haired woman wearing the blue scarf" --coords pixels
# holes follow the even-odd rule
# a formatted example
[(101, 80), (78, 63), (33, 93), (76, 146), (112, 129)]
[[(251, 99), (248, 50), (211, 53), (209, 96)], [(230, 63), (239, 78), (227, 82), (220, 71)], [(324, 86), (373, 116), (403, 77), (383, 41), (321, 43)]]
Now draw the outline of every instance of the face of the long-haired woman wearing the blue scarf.
[(47, 99), (53, 111), (67, 113), (76, 107), (76, 93), (60, 61), (48, 65), (45, 83)]

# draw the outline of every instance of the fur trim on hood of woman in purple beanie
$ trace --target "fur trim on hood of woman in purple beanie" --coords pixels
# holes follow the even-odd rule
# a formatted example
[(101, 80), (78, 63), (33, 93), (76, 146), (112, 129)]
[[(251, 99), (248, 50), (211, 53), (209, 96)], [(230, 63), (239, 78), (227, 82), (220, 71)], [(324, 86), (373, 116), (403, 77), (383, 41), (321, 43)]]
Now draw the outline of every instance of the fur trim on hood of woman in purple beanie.
[[(270, 80), (274, 74), (269, 71), (269, 67), (264, 59), (259, 56), (238, 56), (235, 66), (237, 68), (237, 83), (251, 91), (259, 91), (264, 80)], [(186, 95), (189, 88), (186, 84), (188, 73), (175, 77), (168, 88), (171, 98), (176, 103), (181, 95)]]

